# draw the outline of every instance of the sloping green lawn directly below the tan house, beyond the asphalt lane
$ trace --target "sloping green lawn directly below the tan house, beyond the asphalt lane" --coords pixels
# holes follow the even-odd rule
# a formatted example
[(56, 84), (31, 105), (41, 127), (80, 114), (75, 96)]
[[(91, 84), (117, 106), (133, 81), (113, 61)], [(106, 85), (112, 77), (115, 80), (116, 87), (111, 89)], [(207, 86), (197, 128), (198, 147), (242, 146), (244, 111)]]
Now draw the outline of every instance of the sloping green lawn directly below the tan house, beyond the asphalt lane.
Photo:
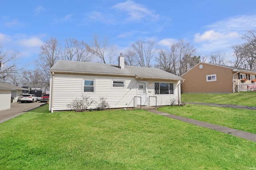
[(182, 102), (203, 102), (216, 104), (234, 104), (256, 107), (256, 92), (239, 93), (184, 93)]

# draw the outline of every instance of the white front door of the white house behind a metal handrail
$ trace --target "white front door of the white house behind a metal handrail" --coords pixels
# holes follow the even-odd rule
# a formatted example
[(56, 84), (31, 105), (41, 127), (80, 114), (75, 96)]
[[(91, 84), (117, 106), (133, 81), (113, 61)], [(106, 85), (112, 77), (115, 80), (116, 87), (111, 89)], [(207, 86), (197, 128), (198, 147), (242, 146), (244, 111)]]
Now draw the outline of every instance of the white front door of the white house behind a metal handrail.
[(140, 103), (140, 98), (137, 98), (137, 105), (141, 105), (141, 106), (147, 105), (146, 84), (147, 84), (147, 82), (138, 82), (138, 84), (137, 84), (137, 96), (141, 97), (141, 103)]

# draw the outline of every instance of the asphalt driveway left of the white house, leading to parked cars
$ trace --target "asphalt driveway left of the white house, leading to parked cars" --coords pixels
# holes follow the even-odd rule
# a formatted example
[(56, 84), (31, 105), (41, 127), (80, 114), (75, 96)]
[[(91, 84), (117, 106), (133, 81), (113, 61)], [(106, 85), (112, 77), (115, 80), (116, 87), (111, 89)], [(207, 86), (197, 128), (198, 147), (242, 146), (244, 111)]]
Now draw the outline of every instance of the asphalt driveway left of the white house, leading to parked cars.
[(11, 103), (11, 108), (0, 111), (0, 123), (3, 123), (5, 121), (8, 121), (18, 115), (21, 115), (23, 113), (26, 113), (32, 109), (35, 109), (36, 107), (41, 106), (41, 102), (34, 102), (34, 103)]

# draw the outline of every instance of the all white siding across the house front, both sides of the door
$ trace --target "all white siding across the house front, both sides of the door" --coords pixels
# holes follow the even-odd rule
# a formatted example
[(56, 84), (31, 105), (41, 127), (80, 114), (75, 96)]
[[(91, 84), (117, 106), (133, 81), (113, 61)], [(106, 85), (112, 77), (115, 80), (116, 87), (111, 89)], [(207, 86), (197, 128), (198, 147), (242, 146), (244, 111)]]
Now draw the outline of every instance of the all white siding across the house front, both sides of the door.
[[(94, 80), (95, 91), (94, 93), (85, 94), (84, 80)], [(113, 88), (113, 80), (124, 81), (124, 88)], [(171, 95), (154, 95), (154, 80), (146, 81), (147, 90), (147, 106), (155, 106), (157, 100), (157, 106), (170, 105), (172, 100), (175, 100), (178, 104), (178, 85), (179, 81), (171, 81), (166, 83), (173, 83), (174, 94)], [(155, 81), (160, 82), (160, 81)], [(52, 83), (52, 78), (50, 80)], [(70, 104), (72, 100), (80, 98), (82, 95), (90, 96), (90, 99), (94, 100), (94, 103), (89, 107), (95, 109), (100, 103), (100, 98), (106, 98), (106, 102), (110, 105), (110, 108), (122, 108), (122, 107), (134, 107), (137, 106), (137, 99), (134, 96), (137, 95), (137, 80), (134, 77), (120, 77), (120, 76), (88, 76), (80, 74), (58, 74), (54, 73), (54, 86), (53, 96), (50, 96), (50, 102), (54, 110), (68, 110), (67, 104)], [(52, 90), (52, 88), (50, 89)], [(150, 97), (149, 96), (156, 96)], [(52, 97), (52, 101), (51, 101)], [(135, 101), (134, 101), (135, 100)], [(150, 101), (150, 103), (149, 103)], [(50, 111), (51, 103), (49, 104)]]

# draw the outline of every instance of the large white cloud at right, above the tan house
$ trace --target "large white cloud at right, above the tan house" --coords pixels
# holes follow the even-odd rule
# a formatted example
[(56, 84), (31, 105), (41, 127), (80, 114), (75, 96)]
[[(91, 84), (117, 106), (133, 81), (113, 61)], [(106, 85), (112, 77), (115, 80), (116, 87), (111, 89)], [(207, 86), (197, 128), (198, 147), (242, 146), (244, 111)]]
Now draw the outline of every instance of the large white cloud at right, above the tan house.
[(207, 25), (204, 32), (194, 34), (194, 43), (202, 56), (209, 55), (212, 51), (221, 51), (231, 59), (232, 49), (230, 47), (244, 43), (241, 37), (246, 30), (255, 29), (255, 27), (256, 15), (226, 18)]

